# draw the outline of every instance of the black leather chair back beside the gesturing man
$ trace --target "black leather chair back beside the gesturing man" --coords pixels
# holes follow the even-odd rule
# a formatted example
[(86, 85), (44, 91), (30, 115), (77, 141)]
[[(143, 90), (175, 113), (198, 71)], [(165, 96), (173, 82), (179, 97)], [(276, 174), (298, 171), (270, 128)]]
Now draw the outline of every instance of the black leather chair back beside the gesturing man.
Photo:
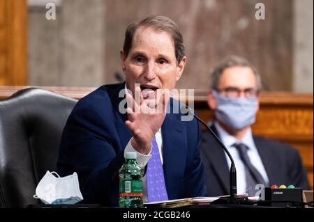
[(77, 100), (27, 88), (0, 101), (0, 205), (27, 207), (46, 171), (55, 171), (66, 120)]

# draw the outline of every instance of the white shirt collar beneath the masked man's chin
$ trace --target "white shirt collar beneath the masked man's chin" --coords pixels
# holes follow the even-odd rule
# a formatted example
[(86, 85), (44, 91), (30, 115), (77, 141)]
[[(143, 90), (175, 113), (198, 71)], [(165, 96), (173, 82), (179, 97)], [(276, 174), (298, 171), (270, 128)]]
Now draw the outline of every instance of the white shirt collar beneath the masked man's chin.
[(244, 143), (248, 147), (248, 149), (254, 149), (255, 148), (255, 143), (253, 140), (253, 134), (252, 134), (251, 127), (248, 128), (248, 130), (246, 131), (246, 134), (241, 139), (241, 141), (238, 141), (237, 138), (234, 138), (234, 136), (230, 135), (228, 132), (225, 131), (225, 129), (220, 127), (218, 122), (214, 121), (214, 125), (217, 129), (217, 132), (218, 132), (220, 138), (221, 138), (221, 141), (223, 142), (223, 144), (225, 144), (225, 146), (227, 148), (231, 148), (232, 145), (234, 145), (234, 143)]

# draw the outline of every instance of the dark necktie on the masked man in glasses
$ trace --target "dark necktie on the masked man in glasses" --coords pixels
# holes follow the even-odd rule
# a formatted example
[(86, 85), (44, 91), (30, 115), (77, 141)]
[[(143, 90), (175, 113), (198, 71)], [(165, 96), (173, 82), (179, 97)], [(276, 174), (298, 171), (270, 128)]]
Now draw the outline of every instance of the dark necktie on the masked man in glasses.
[(266, 186), (267, 184), (260, 172), (252, 165), (248, 157), (248, 147), (244, 143), (234, 144), (233, 146), (237, 148), (246, 168), (246, 193), (250, 196), (255, 196), (255, 185), (264, 184)]

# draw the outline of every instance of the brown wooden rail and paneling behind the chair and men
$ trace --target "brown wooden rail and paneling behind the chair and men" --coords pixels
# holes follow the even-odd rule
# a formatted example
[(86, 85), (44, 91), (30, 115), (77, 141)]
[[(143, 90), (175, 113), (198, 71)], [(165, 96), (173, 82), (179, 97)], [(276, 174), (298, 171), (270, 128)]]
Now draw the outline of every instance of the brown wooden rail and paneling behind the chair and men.
[[(0, 86), (0, 100), (17, 90), (30, 86)], [(40, 87), (55, 93), (80, 99), (95, 88)], [(213, 118), (207, 106), (207, 91), (195, 90), (194, 106), (200, 118)], [(253, 133), (292, 144), (301, 154), (313, 189), (313, 94), (263, 92), (260, 111), (253, 125)]]

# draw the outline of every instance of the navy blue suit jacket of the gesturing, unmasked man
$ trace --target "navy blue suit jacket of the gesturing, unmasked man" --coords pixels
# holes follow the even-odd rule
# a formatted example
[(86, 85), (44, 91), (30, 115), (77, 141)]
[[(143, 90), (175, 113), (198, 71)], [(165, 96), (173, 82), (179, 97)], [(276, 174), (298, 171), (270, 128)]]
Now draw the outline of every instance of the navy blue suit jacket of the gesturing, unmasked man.
[[(118, 205), (118, 172), (132, 137), (124, 123), (126, 114), (119, 112), (123, 89), (124, 84), (101, 86), (82, 98), (63, 129), (57, 172), (61, 176), (77, 172), (84, 203)], [(167, 113), (161, 129), (169, 199), (206, 196), (199, 123), (182, 122), (181, 113)]]

